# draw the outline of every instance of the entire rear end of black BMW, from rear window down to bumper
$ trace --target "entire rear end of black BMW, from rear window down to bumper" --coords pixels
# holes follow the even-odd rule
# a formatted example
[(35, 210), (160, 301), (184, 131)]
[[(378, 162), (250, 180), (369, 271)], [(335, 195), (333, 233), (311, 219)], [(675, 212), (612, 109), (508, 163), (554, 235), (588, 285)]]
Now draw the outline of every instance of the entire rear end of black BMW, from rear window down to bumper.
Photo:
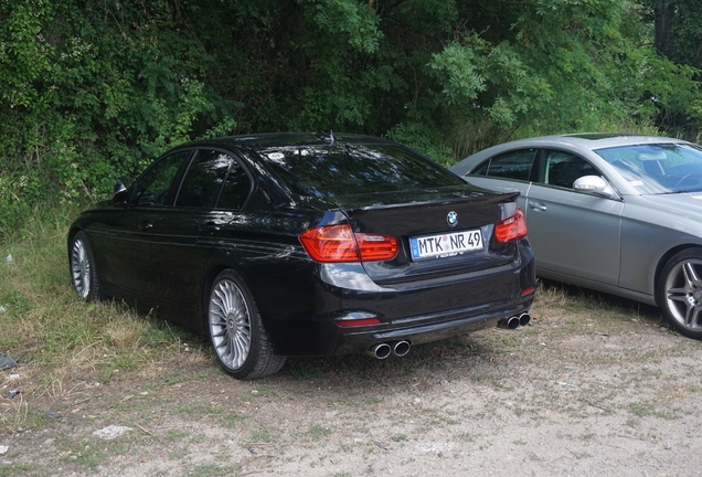
[[(515, 194), (364, 137), (257, 155), (315, 218), (298, 236), (309, 266), (253, 284), (276, 353), (383, 358), (529, 310), (533, 254)], [(284, 283), (299, 293), (276, 299)]]

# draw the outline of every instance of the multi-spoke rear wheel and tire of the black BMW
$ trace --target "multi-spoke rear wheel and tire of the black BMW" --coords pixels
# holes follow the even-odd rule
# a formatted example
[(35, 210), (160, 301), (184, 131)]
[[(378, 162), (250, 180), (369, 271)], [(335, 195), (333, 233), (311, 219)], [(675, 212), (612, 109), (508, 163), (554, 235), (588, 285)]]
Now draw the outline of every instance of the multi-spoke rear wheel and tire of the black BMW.
[(273, 352), (248, 288), (233, 271), (224, 271), (214, 279), (206, 318), (214, 353), (234, 378), (263, 378), (285, 364), (286, 357)]

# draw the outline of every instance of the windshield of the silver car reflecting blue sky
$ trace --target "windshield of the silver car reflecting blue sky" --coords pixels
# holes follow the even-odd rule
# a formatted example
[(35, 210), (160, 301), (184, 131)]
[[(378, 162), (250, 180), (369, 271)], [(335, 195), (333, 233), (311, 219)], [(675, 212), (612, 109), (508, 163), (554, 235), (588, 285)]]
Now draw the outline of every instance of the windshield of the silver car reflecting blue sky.
[(595, 152), (642, 194), (702, 191), (702, 150), (691, 145), (619, 146)]

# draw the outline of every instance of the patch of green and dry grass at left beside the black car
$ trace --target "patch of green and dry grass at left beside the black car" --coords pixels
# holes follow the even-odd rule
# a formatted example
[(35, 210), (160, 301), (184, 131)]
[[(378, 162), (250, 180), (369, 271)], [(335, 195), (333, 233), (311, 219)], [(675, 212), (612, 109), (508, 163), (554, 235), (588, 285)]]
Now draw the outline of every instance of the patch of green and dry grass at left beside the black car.
[[(200, 340), (187, 330), (121, 303), (81, 300), (71, 288), (65, 244), (75, 214), (35, 212), (0, 242), (0, 354), (22, 365), (17, 384), (24, 393), (66, 395), (76, 379), (109, 382), (116, 372), (148, 375), (163, 361), (210, 360), (184, 351), (183, 342)], [(6, 431), (26, 420), (26, 404), (15, 401), (0, 406)]]

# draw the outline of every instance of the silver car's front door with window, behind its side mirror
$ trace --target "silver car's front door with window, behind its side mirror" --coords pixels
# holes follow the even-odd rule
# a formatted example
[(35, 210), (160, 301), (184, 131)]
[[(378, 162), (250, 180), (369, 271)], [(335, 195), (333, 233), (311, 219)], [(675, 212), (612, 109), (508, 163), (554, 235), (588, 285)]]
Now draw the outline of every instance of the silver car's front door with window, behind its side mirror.
[(579, 156), (544, 150), (538, 169), (524, 210), (538, 273), (617, 285), (624, 202), (573, 190), (576, 179), (602, 176)]

